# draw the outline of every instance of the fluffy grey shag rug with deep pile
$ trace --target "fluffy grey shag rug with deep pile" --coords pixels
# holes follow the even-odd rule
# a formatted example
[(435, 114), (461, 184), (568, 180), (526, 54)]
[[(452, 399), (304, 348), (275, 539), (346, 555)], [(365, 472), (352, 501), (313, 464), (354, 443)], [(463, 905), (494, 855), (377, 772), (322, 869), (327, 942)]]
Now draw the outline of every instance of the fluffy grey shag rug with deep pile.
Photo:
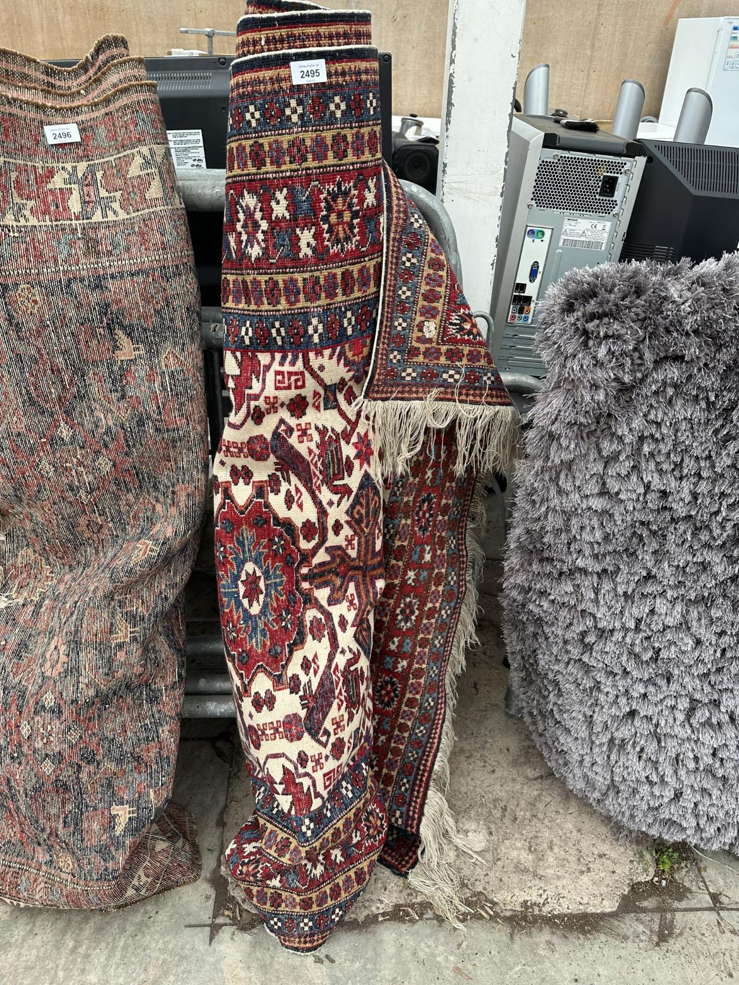
[(739, 258), (549, 296), (505, 560), (511, 684), (617, 827), (739, 840)]

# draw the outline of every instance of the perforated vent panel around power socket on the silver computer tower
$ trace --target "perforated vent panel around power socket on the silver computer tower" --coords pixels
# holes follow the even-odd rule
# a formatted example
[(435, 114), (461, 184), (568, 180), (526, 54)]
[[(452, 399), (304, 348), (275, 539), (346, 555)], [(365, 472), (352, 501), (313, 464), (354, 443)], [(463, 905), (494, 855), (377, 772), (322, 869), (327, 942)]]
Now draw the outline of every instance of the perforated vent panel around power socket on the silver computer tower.
[(561, 154), (543, 158), (536, 169), (533, 202), (539, 209), (608, 215), (619, 208), (617, 198), (599, 195), (605, 174), (621, 175), (627, 161), (592, 155)]

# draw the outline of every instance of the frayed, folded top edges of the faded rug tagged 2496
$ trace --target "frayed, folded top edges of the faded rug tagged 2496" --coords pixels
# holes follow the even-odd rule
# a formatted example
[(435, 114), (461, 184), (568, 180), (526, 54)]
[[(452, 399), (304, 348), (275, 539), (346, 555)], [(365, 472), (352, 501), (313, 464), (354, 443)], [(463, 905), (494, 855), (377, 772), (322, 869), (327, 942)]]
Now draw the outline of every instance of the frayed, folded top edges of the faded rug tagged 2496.
[[(76, 65), (64, 68), (32, 58), (20, 51), (0, 48), (0, 86), (30, 87), (49, 92), (84, 88), (94, 81), (110, 62), (130, 55), (128, 42), (120, 34), (106, 34)], [(128, 79), (129, 82), (133, 78)]]

